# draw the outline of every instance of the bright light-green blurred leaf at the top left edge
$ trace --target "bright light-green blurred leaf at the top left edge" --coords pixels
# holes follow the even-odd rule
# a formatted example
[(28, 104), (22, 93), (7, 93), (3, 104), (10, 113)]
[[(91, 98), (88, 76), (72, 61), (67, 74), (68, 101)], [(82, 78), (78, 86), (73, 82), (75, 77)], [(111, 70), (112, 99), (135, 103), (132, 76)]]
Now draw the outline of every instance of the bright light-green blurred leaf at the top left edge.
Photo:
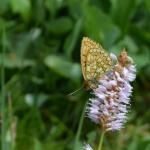
[(18, 13), (26, 20), (31, 11), (30, 0), (11, 0), (11, 7), (14, 13)]

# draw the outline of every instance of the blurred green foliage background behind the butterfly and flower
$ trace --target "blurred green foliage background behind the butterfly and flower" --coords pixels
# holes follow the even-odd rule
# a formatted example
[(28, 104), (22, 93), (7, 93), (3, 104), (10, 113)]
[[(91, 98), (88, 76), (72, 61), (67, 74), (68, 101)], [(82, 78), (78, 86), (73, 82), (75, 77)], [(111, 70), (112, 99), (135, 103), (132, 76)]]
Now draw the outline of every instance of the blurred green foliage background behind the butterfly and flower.
[[(103, 149), (150, 150), (150, 0), (0, 0), (3, 150), (74, 148), (89, 92), (67, 95), (83, 83), (83, 36), (115, 54), (125, 47), (137, 66), (128, 123)], [(84, 118), (77, 149), (100, 133)]]

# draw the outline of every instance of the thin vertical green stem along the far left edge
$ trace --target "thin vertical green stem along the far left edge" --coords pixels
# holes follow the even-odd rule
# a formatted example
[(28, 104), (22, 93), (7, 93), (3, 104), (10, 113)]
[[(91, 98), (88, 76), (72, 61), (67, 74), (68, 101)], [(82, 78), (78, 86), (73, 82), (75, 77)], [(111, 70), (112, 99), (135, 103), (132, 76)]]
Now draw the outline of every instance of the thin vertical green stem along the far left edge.
[(1, 125), (1, 142), (2, 150), (6, 150), (6, 122), (5, 122), (5, 27), (2, 31), (2, 68), (1, 68), (1, 88), (2, 88), (2, 101), (1, 101), (1, 111), (2, 111), (2, 125)]

